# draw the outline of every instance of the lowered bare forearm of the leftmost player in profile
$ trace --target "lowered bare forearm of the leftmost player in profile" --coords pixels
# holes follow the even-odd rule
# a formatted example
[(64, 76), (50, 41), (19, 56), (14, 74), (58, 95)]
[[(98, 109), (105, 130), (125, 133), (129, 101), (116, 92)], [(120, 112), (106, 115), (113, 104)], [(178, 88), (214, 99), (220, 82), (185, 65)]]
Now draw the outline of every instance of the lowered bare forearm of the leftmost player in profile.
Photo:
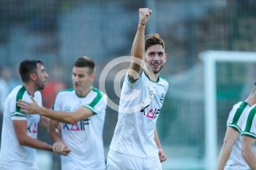
[(19, 143), (23, 146), (29, 146), (38, 150), (52, 151), (52, 146), (50, 144), (34, 139), (28, 135), (20, 140)]

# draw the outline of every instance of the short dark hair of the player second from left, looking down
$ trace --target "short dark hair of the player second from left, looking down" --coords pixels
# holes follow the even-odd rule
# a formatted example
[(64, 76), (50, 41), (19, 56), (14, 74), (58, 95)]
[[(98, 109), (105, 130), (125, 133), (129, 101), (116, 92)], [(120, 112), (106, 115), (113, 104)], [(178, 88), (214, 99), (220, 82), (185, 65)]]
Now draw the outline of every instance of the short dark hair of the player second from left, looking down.
[(73, 64), (73, 67), (88, 67), (89, 68), (89, 75), (91, 75), (95, 70), (95, 63), (92, 59), (88, 58), (87, 56), (77, 58)]

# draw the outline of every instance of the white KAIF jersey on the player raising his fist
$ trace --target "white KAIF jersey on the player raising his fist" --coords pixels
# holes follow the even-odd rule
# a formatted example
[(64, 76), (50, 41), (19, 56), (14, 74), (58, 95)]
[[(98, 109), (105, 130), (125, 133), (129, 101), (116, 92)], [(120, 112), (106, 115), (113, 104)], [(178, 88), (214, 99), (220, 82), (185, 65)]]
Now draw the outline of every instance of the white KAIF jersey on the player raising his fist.
[(158, 157), (154, 130), (168, 86), (161, 76), (157, 82), (151, 82), (144, 71), (132, 83), (127, 73), (111, 150), (134, 157)]

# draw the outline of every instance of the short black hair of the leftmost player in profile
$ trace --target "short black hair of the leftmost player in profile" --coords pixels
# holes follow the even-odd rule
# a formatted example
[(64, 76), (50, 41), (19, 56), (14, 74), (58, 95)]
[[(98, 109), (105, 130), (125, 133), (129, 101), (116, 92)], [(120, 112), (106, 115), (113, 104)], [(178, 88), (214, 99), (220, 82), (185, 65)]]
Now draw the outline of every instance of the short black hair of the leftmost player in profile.
[(36, 73), (37, 64), (44, 65), (40, 59), (25, 59), (19, 65), (19, 73), (22, 82), (28, 82), (31, 73)]

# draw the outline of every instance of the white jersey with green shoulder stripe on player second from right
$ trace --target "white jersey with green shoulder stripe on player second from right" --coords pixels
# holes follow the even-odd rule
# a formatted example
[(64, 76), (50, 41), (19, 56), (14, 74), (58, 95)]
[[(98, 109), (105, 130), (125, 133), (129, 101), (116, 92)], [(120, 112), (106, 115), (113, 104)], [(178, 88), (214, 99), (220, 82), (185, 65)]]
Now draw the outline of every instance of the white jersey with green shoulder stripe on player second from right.
[[(233, 109), (230, 111), (227, 127), (232, 127), (241, 134), (241, 129), (243, 125), (243, 118), (246, 114), (246, 111), (250, 109), (250, 105), (246, 102), (238, 102), (233, 106)], [(234, 144), (230, 157), (228, 158), (227, 164), (225, 165), (225, 170), (236, 170), (236, 169), (248, 169), (243, 156), (241, 155), (241, 144), (242, 137), (239, 135), (236, 143)]]

